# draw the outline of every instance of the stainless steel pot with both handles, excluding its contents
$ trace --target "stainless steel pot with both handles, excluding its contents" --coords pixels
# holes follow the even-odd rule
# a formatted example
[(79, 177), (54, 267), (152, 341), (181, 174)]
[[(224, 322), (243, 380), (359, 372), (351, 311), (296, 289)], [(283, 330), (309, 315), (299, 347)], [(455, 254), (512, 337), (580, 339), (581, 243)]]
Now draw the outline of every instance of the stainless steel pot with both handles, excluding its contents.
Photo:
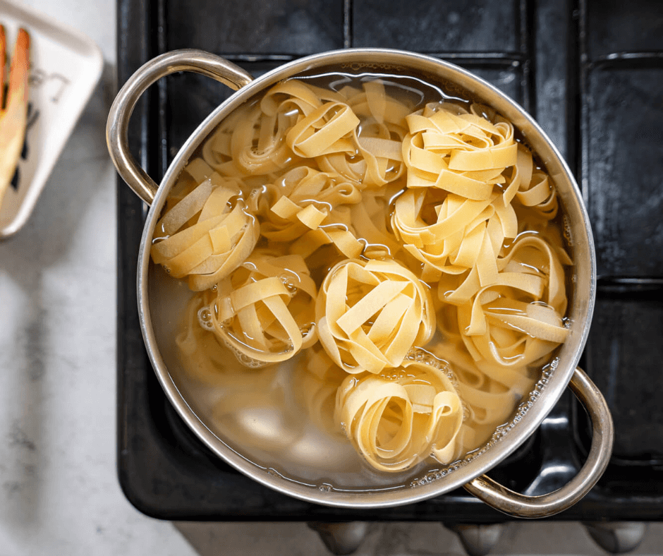
[[(267, 89), (284, 78), (298, 73), (316, 70), (327, 66), (389, 69), (394, 73), (416, 73), (430, 82), (454, 83), (473, 99), (488, 104), (503, 114), (522, 133), (530, 147), (545, 164), (554, 179), (559, 198), (568, 217), (565, 234), (573, 246), (576, 261), (572, 278), (573, 292), (568, 309), (572, 333), (559, 350), (552, 372), (546, 377), (546, 384), (533, 406), (525, 411), (509, 432), (503, 435), (489, 449), (466, 464), (459, 466), (442, 480), (432, 481), (415, 488), (382, 490), (379, 492), (321, 491), (318, 488), (288, 481), (281, 476), (268, 473), (256, 466), (241, 454), (234, 452), (215, 436), (190, 409), (179, 392), (164, 363), (159, 350), (152, 322), (154, 294), (150, 293), (149, 277), (154, 272), (150, 262), (150, 244), (154, 225), (162, 212), (169, 190), (175, 183), (188, 159), (196, 148), (224, 117), (239, 107), (255, 93)], [(178, 71), (202, 73), (239, 90), (230, 99), (209, 114), (183, 145), (173, 163), (166, 171), (160, 186), (147, 176), (131, 157), (128, 151), (128, 122), (140, 95), (159, 78)], [(614, 430), (612, 418), (601, 393), (587, 375), (577, 367), (580, 354), (590, 329), (596, 288), (595, 252), (588, 215), (583, 205), (576, 182), (554, 145), (541, 128), (525, 111), (511, 99), (499, 92), (484, 80), (475, 77), (453, 64), (423, 56), (387, 49), (348, 49), (308, 56), (274, 71), (253, 79), (247, 72), (219, 56), (197, 50), (180, 50), (158, 56), (140, 68), (122, 87), (111, 108), (107, 124), (109, 152), (119, 174), (128, 185), (148, 205), (152, 205), (147, 215), (138, 265), (138, 310), (140, 324), (147, 351), (154, 370), (159, 377), (167, 397), (193, 432), (236, 469), (279, 492), (293, 497), (339, 507), (368, 508), (389, 507), (425, 500), (443, 492), (463, 486), (476, 497), (501, 512), (521, 517), (542, 517), (561, 512), (580, 500), (605, 470), (610, 454)], [(499, 464), (520, 446), (552, 409), (566, 387), (570, 387), (576, 397), (585, 405), (593, 425), (592, 445), (578, 475), (563, 488), (547, 495), (530, 497), (513, 492), (485, 476), (485, 473)]]

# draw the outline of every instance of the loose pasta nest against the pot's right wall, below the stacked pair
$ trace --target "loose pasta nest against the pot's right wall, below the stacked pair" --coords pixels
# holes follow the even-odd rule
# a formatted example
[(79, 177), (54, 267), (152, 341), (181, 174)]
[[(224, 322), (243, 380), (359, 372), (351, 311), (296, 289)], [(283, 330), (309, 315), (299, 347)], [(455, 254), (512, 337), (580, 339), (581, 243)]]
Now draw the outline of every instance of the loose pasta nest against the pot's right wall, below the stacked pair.
[(510, 374), (550, 353), (570, 330), (562, 320), (567, 304), (564, 269), (549, 243), (523, 234), (497, 260), (497, 267), (497, 278), (489, 286), (482, 286), (472, 270), (458, 286), (442, 280), (438, 294), (456, 306), (461, 339), (481, 370), (508, 385), (518, 380)]

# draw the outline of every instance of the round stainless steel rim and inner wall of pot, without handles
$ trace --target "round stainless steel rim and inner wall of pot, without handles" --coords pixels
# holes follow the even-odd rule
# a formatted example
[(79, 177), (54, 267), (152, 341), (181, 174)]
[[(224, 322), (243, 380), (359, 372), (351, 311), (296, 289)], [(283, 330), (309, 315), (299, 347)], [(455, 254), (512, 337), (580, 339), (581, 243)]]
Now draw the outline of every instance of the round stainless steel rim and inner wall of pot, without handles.
[[(166, 368), (152, 328), (150, 295), (148, 293), (148, 277), (151, 266), (149, 246), (152, 242), (154, 226), (164, 205), (167, 193), (183, 167), (185, 167), (190, 155), (193, 154), (195, 149), (202, 143), (202, 140), (209, 135), (209, 132), (217, 126), (221, 119), (233, 111), (233, 109), (236, 109), (236, 107), (256, 92), (264, 90), (279, 80), (291, 77), (292, 75), (308, 71), (312, 68), (334, 64), (339, 59), (343, 59), (348, 64), (363, 64), (369, 59), (377, 59), (379, 57), (383, 59), (369, 63), (384, 64), (386, 66), (408, 66), (413, 71), (425, 71), (430, 75), (437, 73), (439, 80), (449, 80), (456, 83), (456, 85), (459, 85), (464, 90), (468, 90), (470, 94), (482, 99), (485, 104), (497, 109), (500, 114), (509, 119), (521, 131), (530, 145), (537, 145), (533, 147), (533, 150), (545, 162), (549, 175), (551, 177), (554, 176), (553, 179), (564, 205), (565, 213), (575, 219), (574, 222), (571, 222), (574, 255), (576, 255), (576, 259), (578, 259), (578, 255), (585, 255), (585, 258), (580, 263), (576, 262), (576, 265), (574, 265), (574, 284), (576, 284), (576, 289), (571, 300), (572, 303), (568, 309), (568, 314), (573, 321), (573, 333), (567, 342), (561, 346), (559, 355), (556, 358), (558, 363), (552, 365), (552, 372), (549, 373), (545, 381), (545, 387), (542, 387), (540, 390), (540, 395), (533, 410), (526, 411), (517, 422), (512, 423), (508, 434), (500, 437), (487, 451), (478, 454), (471, 461), (463, 463), (458, 469), (455, 469), (444, 478), (437, 481), (425, 482), (422, 485), (417, 485), (416, 488), (408, 488), (408, 485), (399, 485), (398, 487), (375, 488), (368, 492), (362, 492), (359, 489), (342, 490), (336, 488), (331, 491), (319, 490), (317, 485), (298, 483), (288, 477), (274, 473), (273, 470), (269, 470), (270, 472), (268, 472), (267, 469), (246, 459), (235, 449), (224, 443), (212, 430), (207, 428), (205, 423), (197, 417), (191, 406), (188, 405), (185, 397), (179, 391), (173, 377)], [(460, 83), (456, 79), (460, 80)], [(580, 222), (578, 222), (578, 218)], [(494, 466), (512, 454), (535, 432), (547, 414), (552, 410), (559, 397), (561, 397), (564, 389), (566, 389), (587, 341), (595, 301), (596, 260), (588, 214), (582, 202), (582, 194), (575, 179), (573, 179), (571, 170), (561, 157), (559, 150), (556, 149), (542, 128), (519, 104), (482, 78), (478, 78), (476, 75), (463, 68), (459, 68), (455, 64), (433, 58), (432, 56), (395, 49), (343, 49), (306, 56), (274, 68), (268, 73), (264, 73), (231, 95), (225, 102), (219, 104), (197, 126), (164, 174), (164, 178), (159, 184), (157, 195), (154, 198), (154, 203), (152, 203), (150, 212), (147, 215), (138, 254), (137, 288), (140, 327), (143, 338), (145, 339), (147, 352), (149, 353), (159, 382), (181, 418), (193, 430), (195, 435), (209, 449), (212, 449), (214, 454), (258, 483), (304, 500), (305, 502), (315, 502), (332, 507), (352, 507), (355, 509), (384, 508), (420, 502), (421, 500), (441, 495), (444, 492), (449, 492), (465, 485), (469, 481), (472, 481), (473, 478), (487, 473), (487, 471), (494, 468)], [(574, 310), (576, 311), (575, 313), (573, 313)], [(527, 401), (525, 397), (523, 397), (523, 401)], [(440, 466), (441, 469), (444, 467)]]

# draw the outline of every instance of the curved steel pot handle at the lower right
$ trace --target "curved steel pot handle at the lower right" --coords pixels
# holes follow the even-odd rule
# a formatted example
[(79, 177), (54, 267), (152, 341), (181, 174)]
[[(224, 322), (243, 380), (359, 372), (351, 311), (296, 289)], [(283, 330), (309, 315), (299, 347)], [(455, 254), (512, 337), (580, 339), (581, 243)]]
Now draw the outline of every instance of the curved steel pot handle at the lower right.
[(590, 452), (578, 475), (559, 490), (540, 496), (513, 492), (485, 475), (467, 483), (465, 488), (468, 492), (505, 514), (537, 518), (563, 512), (592, 489), (605, 471), (612, 454), (612, 416), (599, 389), (579, 367), (573, 373), (569, 386), (590, 413), (593, 428)]

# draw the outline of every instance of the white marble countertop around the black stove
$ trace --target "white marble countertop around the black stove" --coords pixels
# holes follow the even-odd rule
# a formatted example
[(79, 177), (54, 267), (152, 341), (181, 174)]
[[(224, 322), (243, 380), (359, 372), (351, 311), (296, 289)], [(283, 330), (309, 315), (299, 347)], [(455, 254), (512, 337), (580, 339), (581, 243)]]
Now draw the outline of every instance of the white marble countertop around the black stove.
[[(171, 524), (116, 477), (115, 1), (24, 0), (104, 53), (102, 81), (30, 222), (0, 243), (0, 556), (307, 554), (304, 524)], [(661, 554), (650, 527), (637, 554)], [(541, 542), (542, 539), (544, 542)], [(221, 548), (222, 547), (222, 548)], [(463, 554), (437, 524), (374, 524), (358, 554)], [(578, 524), (511, 524), (495, 554), (603, 554)]]

